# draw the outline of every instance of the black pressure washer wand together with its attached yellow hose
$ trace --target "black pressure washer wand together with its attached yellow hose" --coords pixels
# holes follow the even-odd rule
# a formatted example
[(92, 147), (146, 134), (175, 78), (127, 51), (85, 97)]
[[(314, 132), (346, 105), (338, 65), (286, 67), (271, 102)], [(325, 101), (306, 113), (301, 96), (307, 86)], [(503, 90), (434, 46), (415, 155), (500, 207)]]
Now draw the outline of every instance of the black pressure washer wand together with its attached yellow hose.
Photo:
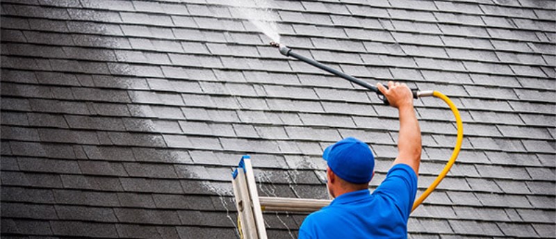
[[(296, 58), (297, 60), (303, 61), (304, 63), (308, 63), (309, 65), (313, 65), (315, 67), (323, 69), (326, 72), (332, 73), (336, 76), (340, 76), (341, 78), (346, 79), (347, 81), (350, 81), (357, 85), (360, 85), (363, 88), (372, 90), (373, 92), (377, 93), (379, 99), (381, 99), (384, 102), (384, 104), (389, 105), (389, 102), (386, 99), (386, 97), (384, 97), (384, 94), (382, 94), (382, 92), (380, 92), (378, 88), (374, 85), (370, 85), (365, 81), (361, 81), (360, 79), (357, 79), (353, 76), (338, 71), (337, 69), (319, 63), (318, 61), (313, 60), (311, 58), (306, 58), (305, 56), (295, 53), (295, 51), (293, 51), (292, 49), (284, 45), (281, 45), (278, 42), (270, 42), (270, 46), (277, 47), (280, 53), (284, 56), (291, 56), (293, 58)], [(448, 160), (448, 163), (446, 163), (442, 172), (439, 174), (439, 176), (436, 177), (436, 179), (432, 182), (429, 188), (427, 188), (427, 190), (425, 190), (425, 192), (423, 192), (423, 194), (418, 199), (415, 200), (413, 209), (411, 210), (414, 211), (430, 195), (430, 193), (436, 188), (436, 186), (439, 185), (442, 179), (444, 179), (446, 174), (448, 174), (448, 172), (450, 171), (450, 168), (452, 168), (452, 165), (454, 165), (455, 160), (457, 159), (457, 156), (459, 154), (459, 150), (461, 149), (461, 144), (464, 140), (464, 126), (463, 126), (463, 122), (461, 122), (461, 116), (459, 115), (459, 110), (457, 110), (455, 104), (450, 100), (450, 98), (446, 97), (441, 92), (438, 92), (436, 90), (419, 91), (418, 89), (411, 89), (411, 92), (413, 93), (414, 99), (418, 99), (419, 97), (437, 97), (442, 99), (446, 104), (448, 104), (448, 106), (452, 110), (452, 113), (454, 113), (456, 119), (456, 125), (457, 125), (457, 139), (456, 139), (456, 145), (454, 147), (454, 151), (452, 152), (452, 156), (450, 157), (450, 160)]]

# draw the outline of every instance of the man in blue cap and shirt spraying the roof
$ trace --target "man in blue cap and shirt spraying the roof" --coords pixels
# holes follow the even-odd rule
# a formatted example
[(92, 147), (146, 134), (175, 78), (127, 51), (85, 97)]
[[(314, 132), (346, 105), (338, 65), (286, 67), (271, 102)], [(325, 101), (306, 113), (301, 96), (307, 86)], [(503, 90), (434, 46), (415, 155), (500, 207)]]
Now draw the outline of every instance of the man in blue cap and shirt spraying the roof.
[(377, 88), (398, 108), (398, 156), (380, 186), (370, 194), (375, 158), (366, 143), (345, 138), (325, 149), (327, 187), (335, 199), (311, 213), (301, 225), (299, 238), (407, 238), (407, 220), (417, 192), (421, 136), (411, 90), (388, 83)]

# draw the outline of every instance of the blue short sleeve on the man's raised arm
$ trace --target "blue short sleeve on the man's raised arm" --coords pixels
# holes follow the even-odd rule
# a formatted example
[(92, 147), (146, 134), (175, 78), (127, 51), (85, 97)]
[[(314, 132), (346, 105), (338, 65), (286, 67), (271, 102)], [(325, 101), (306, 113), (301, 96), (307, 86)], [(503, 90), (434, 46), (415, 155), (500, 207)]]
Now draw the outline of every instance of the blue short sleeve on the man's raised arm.
[(417, 175), (409, 165), (394, 165), (386, 174), (386, 179), (373, 192), (373, 195), (384, 195), (394, 201), (407, 220), (417, 194)]

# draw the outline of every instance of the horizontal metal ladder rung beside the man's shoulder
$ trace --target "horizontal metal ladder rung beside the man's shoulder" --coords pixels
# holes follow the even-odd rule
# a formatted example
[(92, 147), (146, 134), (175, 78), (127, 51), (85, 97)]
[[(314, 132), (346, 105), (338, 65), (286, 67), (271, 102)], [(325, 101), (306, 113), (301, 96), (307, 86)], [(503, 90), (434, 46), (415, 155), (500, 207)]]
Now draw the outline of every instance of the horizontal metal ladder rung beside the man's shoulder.
[(332, 200), (291, 197), (259, 197), (265, 211), (314, 212), (328, 206)]

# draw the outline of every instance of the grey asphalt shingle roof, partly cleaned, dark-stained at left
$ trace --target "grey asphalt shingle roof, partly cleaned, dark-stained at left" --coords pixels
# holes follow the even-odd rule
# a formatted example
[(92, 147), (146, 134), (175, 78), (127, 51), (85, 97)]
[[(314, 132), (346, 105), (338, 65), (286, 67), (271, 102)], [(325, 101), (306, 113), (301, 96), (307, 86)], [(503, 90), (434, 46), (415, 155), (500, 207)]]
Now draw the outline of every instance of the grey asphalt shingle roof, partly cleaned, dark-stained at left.
[[(260, 1), (259, 1), (260, 2)], [(236, 238), (230, 177), (325, 198), (322, 149), (354, 135), (396, 156), (397, 113), (285, 58), (222, 0), (1, 3), (3, 238)], [(549, 0), (266, 1), (281, 42), (370, 83), (450, 96), (456, 165), (409, 238), (556, 237), (556, 5)], [(419, 99), (422, 192), (455, 142)], [(270, 238), (305, 215), (266, 213)]]

